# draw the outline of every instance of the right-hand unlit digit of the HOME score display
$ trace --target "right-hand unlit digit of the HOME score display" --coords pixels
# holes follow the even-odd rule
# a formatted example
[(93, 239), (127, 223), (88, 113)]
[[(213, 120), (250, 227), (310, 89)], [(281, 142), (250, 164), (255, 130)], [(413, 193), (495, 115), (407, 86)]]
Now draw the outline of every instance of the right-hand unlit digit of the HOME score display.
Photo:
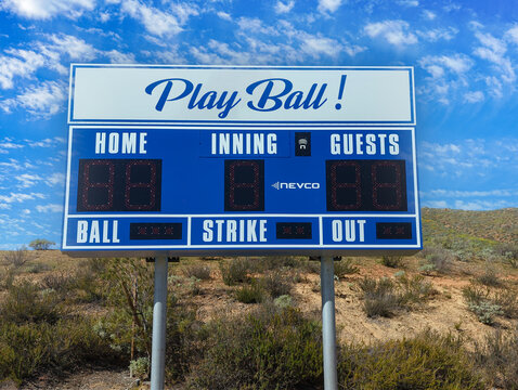
[(130, 211), (153, 210), (156, 203), (156, 166), (134, 160), (126, 165), (125, 207)]

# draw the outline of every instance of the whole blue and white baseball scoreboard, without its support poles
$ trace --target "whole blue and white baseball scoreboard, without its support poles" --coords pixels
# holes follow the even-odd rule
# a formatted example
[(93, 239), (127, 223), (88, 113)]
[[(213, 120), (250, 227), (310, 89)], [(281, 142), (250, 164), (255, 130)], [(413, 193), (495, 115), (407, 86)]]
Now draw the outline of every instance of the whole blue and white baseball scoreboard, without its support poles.
[(413, 69), (73, 65), (74, 256), (422, 248)]

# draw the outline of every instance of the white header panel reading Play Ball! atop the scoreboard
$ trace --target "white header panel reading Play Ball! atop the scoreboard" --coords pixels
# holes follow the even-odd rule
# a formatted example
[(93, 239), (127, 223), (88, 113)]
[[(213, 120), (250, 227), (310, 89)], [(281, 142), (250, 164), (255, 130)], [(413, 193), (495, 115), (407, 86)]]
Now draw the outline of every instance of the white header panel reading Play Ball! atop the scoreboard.
[(415, 125), (412, 67), (72, 65), (70, 123)]

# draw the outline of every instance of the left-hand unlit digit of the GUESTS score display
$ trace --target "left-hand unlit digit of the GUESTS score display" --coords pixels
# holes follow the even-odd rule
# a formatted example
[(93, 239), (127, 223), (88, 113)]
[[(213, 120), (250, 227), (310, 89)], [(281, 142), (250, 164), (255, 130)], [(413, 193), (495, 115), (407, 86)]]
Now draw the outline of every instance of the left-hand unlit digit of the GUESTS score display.
[[(329, 169), (331, 168), (331, 169)], [(362, 174), (357, 161), (331, 161), (328, 186), (331, 187), (331, 209), (358, 210), (362, 207)]]

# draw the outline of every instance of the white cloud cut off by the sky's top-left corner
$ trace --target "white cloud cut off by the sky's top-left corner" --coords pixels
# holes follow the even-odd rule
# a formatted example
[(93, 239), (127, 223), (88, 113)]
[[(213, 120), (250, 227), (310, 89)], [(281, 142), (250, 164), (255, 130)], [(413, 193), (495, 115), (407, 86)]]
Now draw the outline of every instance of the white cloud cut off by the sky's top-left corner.
[(94, 6), (95, 0), (4, 0), (0, 10), (31, 20), (48, 20), (56, 15), (78, 18)]

